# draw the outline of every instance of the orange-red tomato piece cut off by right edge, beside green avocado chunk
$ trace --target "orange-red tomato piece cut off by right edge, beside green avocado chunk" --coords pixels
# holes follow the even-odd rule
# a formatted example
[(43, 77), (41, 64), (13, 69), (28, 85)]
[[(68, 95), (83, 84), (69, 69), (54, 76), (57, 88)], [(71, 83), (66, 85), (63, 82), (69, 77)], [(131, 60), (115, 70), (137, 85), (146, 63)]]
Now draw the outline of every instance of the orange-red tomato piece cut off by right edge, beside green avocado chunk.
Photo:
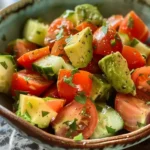
[(150, 66), (137, 68), (131, 78), (138, 90), (150, 95)]

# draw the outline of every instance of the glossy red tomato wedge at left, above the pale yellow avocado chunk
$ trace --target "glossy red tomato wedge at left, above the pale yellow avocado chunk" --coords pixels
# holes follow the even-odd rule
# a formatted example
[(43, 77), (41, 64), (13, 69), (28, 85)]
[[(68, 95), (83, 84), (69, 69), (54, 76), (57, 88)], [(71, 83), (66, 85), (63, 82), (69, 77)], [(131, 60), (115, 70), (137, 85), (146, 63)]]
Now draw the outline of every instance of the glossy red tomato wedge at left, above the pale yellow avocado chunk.
[(13, 74), (11, 93), (14, 96), (15, 91), (25, 91), (40, 96), (52, 83), (33, 71), (21, 70)]

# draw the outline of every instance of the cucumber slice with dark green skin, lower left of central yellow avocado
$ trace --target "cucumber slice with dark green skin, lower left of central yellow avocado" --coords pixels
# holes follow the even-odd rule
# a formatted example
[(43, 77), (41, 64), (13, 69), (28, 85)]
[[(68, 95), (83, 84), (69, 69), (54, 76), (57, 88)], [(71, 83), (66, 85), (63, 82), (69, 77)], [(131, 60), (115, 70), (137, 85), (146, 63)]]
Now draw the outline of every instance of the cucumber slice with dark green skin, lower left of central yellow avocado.
[(32, 67), (35, 71), (39, 72), (48, 79), (56, 77), (59, 69), (73, 69), (71, 65), (65, 63), (62, 57), (54, 55), (42, 57), (41, 59), (35, 61), (32, 64)]

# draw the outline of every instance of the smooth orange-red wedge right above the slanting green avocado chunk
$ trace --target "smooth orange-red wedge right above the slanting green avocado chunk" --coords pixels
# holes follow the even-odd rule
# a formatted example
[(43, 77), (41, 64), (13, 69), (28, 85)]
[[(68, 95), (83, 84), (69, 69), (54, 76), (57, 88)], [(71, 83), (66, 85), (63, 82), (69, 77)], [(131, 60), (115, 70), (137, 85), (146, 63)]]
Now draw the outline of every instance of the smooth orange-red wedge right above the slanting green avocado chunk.
[(144, 57), (133, 47), (124, 45), (122, 56), (127, 60), (130, 70), (143, 67), (146, 64)]

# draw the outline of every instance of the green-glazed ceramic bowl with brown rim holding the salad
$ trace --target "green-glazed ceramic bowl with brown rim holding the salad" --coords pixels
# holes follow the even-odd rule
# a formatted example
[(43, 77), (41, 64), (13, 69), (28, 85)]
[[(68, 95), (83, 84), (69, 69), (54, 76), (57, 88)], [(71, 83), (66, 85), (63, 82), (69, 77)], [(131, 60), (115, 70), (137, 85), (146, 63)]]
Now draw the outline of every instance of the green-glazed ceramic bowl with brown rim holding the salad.
[[(104, 17), (111, 14), (123, 14), (134, 10), (150, 27), (149, 0), (21, 0), (0, 12), (0, 51), (4, 51), (8, 42), (21, 37), (22, 28), (28, 18), (43, 18), (50, 22), (66, 9), (73, 9), (77, 4), (91, 3), (97, 5)], [(21, 129), (24, 136), (45, 144), (49, 149), (105, 149), (118, 150), (136, 145), (150, 138), (150, 125), (131, 133), (116, 135), (103, 139), (75, 142), (58, 137), (38, 129), (12, 113), (12, 101), (0, 98), (0, 115), (11, 125)], [(59, 148), (58, 148), (59, 147)]]

